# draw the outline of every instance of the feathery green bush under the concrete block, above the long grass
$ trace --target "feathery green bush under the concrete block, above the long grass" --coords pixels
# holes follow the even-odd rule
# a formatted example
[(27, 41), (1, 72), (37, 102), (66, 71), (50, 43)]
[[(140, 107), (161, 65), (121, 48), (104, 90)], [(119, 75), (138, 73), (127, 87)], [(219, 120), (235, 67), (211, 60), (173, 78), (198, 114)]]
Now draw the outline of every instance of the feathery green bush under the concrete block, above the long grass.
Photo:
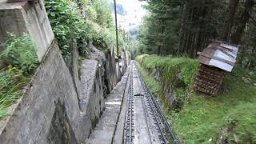
[(28, 34), (22, 34), (19, 38), (14, 34), (9, 34), (6, 49), (0, 57), (4, 65), (17, 67), (27, 74), (32, 74), (38, 66), (35, 45)]

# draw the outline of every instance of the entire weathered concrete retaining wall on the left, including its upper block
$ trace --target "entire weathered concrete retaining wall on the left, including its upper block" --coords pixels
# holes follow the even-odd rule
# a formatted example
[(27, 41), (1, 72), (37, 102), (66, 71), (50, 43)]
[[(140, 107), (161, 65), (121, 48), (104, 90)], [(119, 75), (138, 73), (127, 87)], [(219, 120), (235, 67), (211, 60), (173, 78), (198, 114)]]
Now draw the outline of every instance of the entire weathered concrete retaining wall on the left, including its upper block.
[[(35, 40), (42, 60), (26, 93), (12, 106), (3, 124), (0, 122), (0, 143), (85, 142), (105, 108), (104, 91), (110, 93), (118, 82), (114, 50), (103, 53), (91, 46), (94, 57), (79, 62), (74, 42), (67, 66), (42, 1), (6, 4), (6, 0), (0, 0), (0, 23), (0, 41), (6, 38), (6, 32), (26, 32)], [(123, 71), (126, 59), (125, 55)]]

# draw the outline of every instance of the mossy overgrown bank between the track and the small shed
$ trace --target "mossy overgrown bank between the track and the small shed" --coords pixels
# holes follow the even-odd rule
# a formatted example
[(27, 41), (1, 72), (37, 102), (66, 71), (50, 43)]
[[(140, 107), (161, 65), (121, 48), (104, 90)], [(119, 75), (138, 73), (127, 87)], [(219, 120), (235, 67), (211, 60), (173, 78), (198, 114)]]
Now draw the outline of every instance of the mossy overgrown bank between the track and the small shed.
[[(161, 86), (159, 90), (162, 95), (171, 86), (177, 93), (179, 102), (190, 99), (194, 78), (198, 73), (197, 60), (142, 54), (136, 58), (136, 61), (150, 73), (158, 71), (158, 75), (154, 75), (154, 78), (158, 77), (156, 79)], [(173, 108), (176, 109), (176, 107)]]

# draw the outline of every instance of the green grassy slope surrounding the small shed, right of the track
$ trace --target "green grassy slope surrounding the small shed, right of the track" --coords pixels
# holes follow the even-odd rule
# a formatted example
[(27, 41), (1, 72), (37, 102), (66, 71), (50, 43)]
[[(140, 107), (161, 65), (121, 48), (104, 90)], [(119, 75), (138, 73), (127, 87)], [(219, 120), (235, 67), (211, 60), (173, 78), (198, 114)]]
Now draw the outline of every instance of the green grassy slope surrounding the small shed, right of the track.
[[(195, 60), (189, 62), (189, 58), (161, 58), (144, 55), (137, 58), (137, 61), (144, 68), (142, 77), (145, 78), (149, 86), (151, 85), (150, 89), (159, 89), (153, 89), (158, 92), (162, 89), (162, 82), (154, 81), (152, 71), (155, 67), (179, 65), (178, 69), (182, 71), (182, 81), (186, 83), (185, 90), (177, 90), (181, 94), (193, 86), (194, 77), (198, 70), (197, 64), (194, 63)], [(194, 66), (190, 66), (193, 64)], [(216, 98), (189, 90), (186, 94), (191, 95), (190, 100), (184, 101), (183, 99), (184, 104), (181, 110), (174, 112), (167, 108), (166, 110), (169, 110), (168, 118), (172, 122), (180, 141), (182, 143), (216, 143), (222, 135), (228, 143), (255, 143), (256, 86), (247, 84), (242, 80), (242, 77), (246, 76), (255, 82), (255, 73), (250, 73), (249, 70), (237, 66), (234, 72), (226, 75), (222, 90)], [(227, 130), (226, 133), (224, 133), (225, 129)]]

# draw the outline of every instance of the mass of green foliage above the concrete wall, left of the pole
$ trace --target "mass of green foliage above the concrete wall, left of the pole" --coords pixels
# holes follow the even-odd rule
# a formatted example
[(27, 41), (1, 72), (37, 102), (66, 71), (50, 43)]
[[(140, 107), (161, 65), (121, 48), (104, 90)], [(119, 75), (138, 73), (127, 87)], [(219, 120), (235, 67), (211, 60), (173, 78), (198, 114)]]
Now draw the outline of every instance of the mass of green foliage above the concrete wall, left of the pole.
[[(85, 43), (92, 41), (94, 46), (107, 50), (115, 42), (115, 28), (107, 0), (56, 0), (45, 1), (46, 11), (55, 37), (67, 57), (70, 54), (70, 42), (78, 42), (83, 54)], [(124, 47), (122, 31), (119, 31), (119, 44)]]

